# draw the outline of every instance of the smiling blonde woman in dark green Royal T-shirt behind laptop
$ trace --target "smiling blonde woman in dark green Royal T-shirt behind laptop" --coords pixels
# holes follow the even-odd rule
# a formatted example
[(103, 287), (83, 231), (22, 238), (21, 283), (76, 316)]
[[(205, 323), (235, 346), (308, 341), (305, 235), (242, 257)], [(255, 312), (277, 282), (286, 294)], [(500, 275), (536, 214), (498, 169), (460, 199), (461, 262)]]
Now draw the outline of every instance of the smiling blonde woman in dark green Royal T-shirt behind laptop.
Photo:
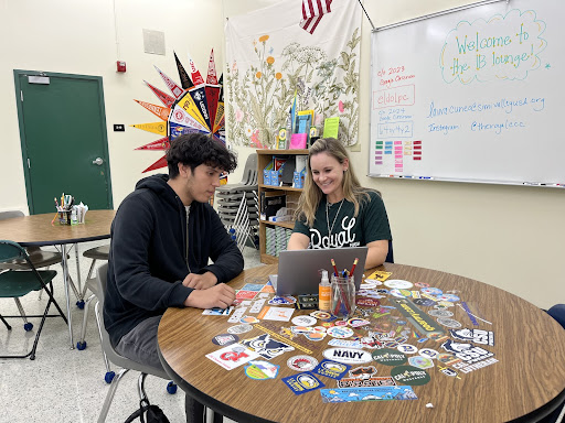
[(371, 269), (386, 259), (390, 239), (381, 195), (359, 184), (343, 144), (334, 138), (316, 141), (288, 249), (366, 246), (365, 269)]

